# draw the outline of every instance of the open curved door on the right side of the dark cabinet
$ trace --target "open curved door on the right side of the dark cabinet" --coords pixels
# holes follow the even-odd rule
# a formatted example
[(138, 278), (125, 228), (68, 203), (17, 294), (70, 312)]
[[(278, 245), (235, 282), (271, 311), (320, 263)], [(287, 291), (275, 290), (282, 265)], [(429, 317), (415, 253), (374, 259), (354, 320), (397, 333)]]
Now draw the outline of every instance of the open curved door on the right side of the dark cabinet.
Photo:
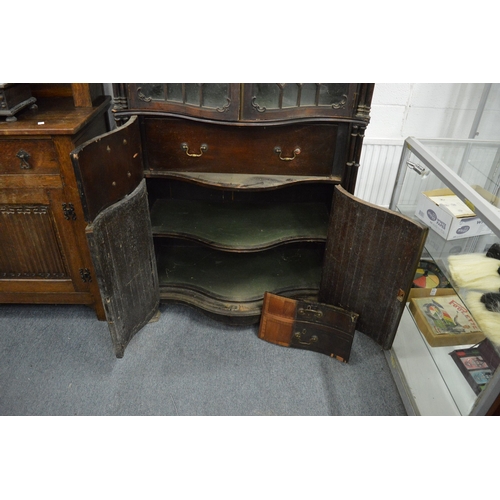
[(359, 315), (356, 330), (390, 349), (428, 228), (335, 187), (319, 300)]

